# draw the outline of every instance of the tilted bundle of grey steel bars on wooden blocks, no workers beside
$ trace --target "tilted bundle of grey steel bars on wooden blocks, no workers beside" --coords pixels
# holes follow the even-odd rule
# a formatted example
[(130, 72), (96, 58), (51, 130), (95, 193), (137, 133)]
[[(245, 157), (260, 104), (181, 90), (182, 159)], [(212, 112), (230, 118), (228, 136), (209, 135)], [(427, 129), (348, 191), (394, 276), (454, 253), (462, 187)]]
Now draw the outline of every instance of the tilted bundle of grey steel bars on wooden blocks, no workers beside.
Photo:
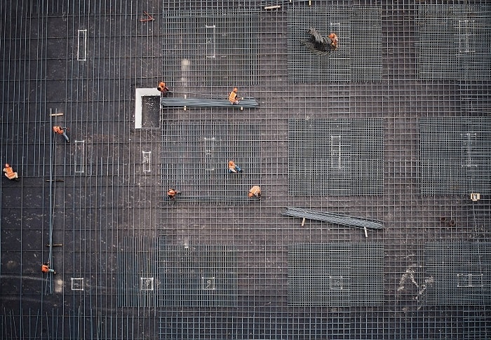
[(360, 219), (349, 215), (339, 215), (332, 212), (321, 212), (316, 210), (288, 207), (282, 215), (290, 217), (300, 217), (305, 219), (315, 219), (317, 221), (340, 224), (342, 226), (354, 226), (356, 228), (382, 229), (382, 222), (370, 219)]

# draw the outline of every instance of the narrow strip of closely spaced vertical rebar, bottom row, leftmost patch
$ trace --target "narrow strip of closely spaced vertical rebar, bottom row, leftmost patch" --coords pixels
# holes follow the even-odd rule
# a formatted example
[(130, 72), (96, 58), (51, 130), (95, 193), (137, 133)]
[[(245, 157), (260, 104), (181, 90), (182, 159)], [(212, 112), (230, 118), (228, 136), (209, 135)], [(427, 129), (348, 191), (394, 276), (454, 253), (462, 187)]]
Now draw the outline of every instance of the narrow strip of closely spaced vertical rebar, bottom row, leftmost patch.
[(118, 306), (156, 306), (156, 262), (165, 237), (126, 237), (118, 252)]

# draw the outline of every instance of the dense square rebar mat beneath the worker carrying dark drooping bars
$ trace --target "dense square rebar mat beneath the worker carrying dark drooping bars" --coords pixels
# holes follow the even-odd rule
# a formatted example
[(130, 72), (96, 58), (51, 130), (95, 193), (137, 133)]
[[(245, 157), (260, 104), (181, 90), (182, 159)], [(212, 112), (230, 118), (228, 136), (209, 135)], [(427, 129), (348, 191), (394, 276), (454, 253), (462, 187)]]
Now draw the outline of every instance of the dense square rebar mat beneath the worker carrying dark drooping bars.
[[(302, 43), (313, 27), (339, 47), (315, 55)], [(382, 79), (382, 19), (379, 6), (310, 6), (288, 8), (288, 76), (290, 82), (379, 81)]]

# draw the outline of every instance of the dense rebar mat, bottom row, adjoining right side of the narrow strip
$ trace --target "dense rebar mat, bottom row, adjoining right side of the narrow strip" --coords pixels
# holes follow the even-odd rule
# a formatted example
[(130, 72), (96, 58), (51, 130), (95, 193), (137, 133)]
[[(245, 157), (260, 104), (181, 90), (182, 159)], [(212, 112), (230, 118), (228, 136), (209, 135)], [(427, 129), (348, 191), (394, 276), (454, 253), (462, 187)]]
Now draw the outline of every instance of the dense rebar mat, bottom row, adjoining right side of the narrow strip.
[(160, 306), (237, 305), (237, 251), (233, 246), (168, 245), (159, 254), (159, 273)]

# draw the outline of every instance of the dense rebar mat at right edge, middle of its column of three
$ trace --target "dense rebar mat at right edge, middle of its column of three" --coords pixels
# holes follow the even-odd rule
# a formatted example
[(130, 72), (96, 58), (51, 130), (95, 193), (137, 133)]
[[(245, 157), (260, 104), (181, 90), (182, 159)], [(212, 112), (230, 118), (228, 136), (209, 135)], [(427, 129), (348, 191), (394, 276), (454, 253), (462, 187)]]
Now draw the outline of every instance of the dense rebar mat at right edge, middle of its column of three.
[(419, 119), (421, 193), (491, 192), (491, 118)]

